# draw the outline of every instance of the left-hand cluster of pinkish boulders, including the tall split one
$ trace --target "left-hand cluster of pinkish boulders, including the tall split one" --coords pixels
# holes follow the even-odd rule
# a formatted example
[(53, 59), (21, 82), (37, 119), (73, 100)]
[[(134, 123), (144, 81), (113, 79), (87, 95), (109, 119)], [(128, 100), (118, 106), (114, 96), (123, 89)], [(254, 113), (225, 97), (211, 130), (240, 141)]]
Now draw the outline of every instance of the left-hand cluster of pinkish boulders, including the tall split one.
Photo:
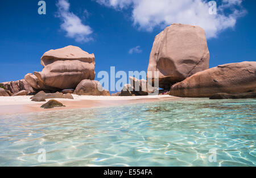
[[(93, 53), (89, 54), (79, 47), (69, 45), (45, 52), (41, 57), (41, 64), (43, 65), (42, 72), (28, 73), (22, 80), (3, 82), (0, 86), (9, 90), (11, 95), (15, 94), (14, 96), (34, 94), (40, 91), (47, 93), (61, 91), (64, 94), (76, 91), (77, 94), (110, 95), (105, 90), (97, 92), (93, 87), (90, 88), (93, 90), (91, 92), (79, 92), (80, 86), (84, 85), (84, 80), (96, 82), (94, 81), (95, 57)], [(97, 83), (97, 85), (100, 84)], [(1, 91), (6, 96), (5, 92)]]

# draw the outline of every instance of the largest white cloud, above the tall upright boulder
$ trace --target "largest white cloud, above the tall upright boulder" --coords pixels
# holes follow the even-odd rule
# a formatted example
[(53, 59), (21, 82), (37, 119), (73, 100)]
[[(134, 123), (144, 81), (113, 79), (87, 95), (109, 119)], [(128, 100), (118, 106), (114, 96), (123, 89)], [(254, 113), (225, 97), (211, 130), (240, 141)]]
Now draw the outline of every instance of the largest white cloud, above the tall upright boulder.
[(134, 26), (140, 30), (152, 31), (172, 23), (192, 24), (204, 28), (208, 38), (233, 28), (237, 18), (245, 14), (242, 0), (222, 0), (217, 14), (209, 14), (209, 1), (205, 0), (96, 0), (101, 5), (122, 10), (131, 7)]

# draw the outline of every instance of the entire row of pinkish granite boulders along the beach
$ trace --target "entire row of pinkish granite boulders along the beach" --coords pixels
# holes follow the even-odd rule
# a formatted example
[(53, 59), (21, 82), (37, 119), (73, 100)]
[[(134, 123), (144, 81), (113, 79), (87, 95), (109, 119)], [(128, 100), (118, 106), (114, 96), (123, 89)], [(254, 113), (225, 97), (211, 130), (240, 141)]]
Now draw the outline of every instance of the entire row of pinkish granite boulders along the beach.
[[(209, 50), (201, 27), (174, 23), (156, 35), (147, 69), (147, 81), (129, 77), (130, 84), (113, 96), (147, 96), (151, 93), (178, 97), (255, 97), (256, 62), (218, 65), (209, 69)], [(0, 96), (20, 96), (40, 91), (77, 95), (110, 96), (94, 81), (95, 58), (79, 47), (51, 49), (41, 58), (42, 72), (0, 84)], [(159, 90), (154, 84), (158, 78)], [(168, 92), (170, 90), (170, 92)], [(42, 93), (41, 93), (42, 94)], [(65, 96), (64, 96), (65, 95)], [(35, 100), (45, 100), (38, 96)], [(49, 96), (47, 96), (49, 97)]]

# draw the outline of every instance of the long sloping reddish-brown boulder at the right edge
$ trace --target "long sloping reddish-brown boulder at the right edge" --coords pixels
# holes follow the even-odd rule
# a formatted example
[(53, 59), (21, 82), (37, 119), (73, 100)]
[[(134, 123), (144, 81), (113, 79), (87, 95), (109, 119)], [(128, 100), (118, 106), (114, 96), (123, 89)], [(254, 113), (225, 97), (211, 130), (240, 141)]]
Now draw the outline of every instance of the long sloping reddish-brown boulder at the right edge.
[(256, 62), (218, 65), (173, 85), (172, 96), (210, 97), (215, 93), (237, 94), (256, 88)]

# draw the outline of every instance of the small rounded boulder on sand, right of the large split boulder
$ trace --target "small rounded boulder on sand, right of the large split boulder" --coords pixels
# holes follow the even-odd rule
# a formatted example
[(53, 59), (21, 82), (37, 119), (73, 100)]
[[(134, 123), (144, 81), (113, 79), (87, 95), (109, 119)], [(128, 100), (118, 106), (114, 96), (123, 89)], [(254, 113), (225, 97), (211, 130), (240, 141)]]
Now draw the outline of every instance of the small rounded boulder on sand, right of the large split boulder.
[(104, 90), (100, 82), (96, 80), (82, 80), (77, 85), (74, 94), (89, 95), (89, 96), (110, 96), (109, 91)]

